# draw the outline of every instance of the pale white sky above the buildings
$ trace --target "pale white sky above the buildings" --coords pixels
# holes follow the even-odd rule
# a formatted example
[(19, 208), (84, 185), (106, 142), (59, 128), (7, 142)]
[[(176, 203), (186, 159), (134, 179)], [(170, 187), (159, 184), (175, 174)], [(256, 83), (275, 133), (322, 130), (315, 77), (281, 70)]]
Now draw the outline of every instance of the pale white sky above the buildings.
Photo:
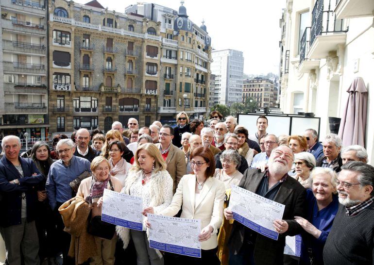
[[(124, 13), (136, 1), (98, 0), (109, 10)], [(75, 0), (84, 4), (89, 0)], [(178, 11), (180, 0), (153, 0)], [(185, 0), (187, 15), (206, 30), (216, 50), (234, 49), (243, 52), (245, 74), (278, 74), (279, 18), (285, 0)]]

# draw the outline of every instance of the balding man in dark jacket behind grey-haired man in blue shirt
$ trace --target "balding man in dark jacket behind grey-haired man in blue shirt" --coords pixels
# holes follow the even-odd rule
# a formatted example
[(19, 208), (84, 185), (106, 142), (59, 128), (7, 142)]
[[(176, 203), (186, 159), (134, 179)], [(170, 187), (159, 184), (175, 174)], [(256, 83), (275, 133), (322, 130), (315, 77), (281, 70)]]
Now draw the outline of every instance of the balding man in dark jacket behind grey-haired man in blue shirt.
[(75, 149), (74, 155), (83, 157), (91, 163), (95, 157), (100, 155), (100, 151), (92, 149), (92, 147), (88, 144), (90, 140), (91, 138), (88, 130), (85, 128), (79, 129), (75, 133), (75, 143), (77, 144), (77, 149)]

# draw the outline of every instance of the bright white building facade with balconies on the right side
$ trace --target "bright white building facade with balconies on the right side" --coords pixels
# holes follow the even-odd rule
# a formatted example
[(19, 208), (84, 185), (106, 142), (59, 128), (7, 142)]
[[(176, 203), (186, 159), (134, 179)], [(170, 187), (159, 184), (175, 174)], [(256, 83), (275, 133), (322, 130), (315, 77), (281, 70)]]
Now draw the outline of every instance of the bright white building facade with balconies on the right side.
[(287, 0), (280, 19), (280, 108), (321, 117), (320, 136), (329, 133), (328, 117), (342, 117), (356, 77), (369, 91), (365, 148), (374, 162), (374, 1)]

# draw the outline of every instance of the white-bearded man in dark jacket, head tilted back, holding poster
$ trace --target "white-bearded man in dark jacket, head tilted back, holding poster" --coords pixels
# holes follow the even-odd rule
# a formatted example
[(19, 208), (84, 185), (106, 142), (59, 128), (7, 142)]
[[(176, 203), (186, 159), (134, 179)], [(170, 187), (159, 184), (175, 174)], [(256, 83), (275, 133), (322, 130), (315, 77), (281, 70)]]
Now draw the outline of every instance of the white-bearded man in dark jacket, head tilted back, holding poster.
[[(234, 221), (228, 248), (230, 265), (280, 265), (283, 264), (283, 251), (286, 235), (293, 236), (303, 229), (294, 216), (305, 217), (306, 190), (295, 179), (289, 177), (294, 156), (288, 146), (272, 150), (269, 168), (265, 172), (250, 168), (239, 183), (239, 187), (257, 195), (284, 204), (282, 220), (275, 220), (273, 227), (279, 233), (278, 240), (263, 236)], [(229, 208), (224, 209), (226, 219), (232, 219)]]

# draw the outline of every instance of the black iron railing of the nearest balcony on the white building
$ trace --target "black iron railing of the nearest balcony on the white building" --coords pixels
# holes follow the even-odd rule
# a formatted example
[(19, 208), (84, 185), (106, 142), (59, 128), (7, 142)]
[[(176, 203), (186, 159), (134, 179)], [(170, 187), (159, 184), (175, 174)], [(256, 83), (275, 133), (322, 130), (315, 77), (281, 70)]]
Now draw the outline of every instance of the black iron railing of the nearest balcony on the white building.
[(324, 1), (317, 0), (312, 11), (312, 26), (310, 29), (310, 46), (317, 36), (328, 33), (346, 33), (348, 26), (344, 27), (343, 19), (337, 19), (334, 8), (337, 0), (333, 0), (335, 5), (331, 5), (332, 0), (328, 0), (328, 6), (324, 8)]

